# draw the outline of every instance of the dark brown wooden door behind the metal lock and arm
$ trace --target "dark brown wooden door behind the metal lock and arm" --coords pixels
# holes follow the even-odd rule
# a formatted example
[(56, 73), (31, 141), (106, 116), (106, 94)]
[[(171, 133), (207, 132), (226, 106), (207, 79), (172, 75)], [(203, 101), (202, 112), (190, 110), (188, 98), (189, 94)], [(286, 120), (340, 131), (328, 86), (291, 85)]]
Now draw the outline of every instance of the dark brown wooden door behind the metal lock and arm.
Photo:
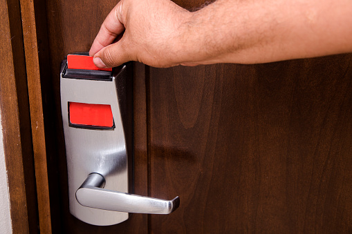
[[(352, 231), (352, 55), (193, 68), (134, 64), (134, 192), (179, 195), (180, 207), (107, 227), (75, 219), (59, 64), (89, 50), (116, 2), (41, 3), (35, 22), (53, 233)], [(203, 1), (176, 3), (191, 9)]]

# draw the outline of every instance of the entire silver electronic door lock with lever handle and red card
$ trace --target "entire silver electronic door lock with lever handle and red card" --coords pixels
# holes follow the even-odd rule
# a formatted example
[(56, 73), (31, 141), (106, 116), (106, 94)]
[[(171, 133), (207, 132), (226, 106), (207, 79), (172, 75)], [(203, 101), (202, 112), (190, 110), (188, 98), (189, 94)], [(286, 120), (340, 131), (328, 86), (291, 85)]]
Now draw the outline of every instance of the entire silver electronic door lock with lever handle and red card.
[[(127, 220), (129, 213), (172, 213), (178, 197), (129, 194), (124, 104), (131, 64), (95, 70), (92, 57), (70, 56), (62, 61), (60, 90), (71, 214), (106, 226)], [(68, 64), (72, 58), (78, 59), (73, 68)], [(80, 61), (86, 64), (80, 67)]]

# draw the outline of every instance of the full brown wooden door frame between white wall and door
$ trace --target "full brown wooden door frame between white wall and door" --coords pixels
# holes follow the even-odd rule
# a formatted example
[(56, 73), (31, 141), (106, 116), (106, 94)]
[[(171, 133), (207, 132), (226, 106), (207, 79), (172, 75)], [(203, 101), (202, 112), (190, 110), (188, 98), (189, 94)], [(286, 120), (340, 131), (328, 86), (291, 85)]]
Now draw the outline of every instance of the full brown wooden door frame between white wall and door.
[(45, 134), (50, 109), (43, 108), (43, 100), (50, 99), (43, 79), (48, 74), (45, 2), (1, 0), (0, 5), (6, 32), (1, 34), (6, 79), (0, 80), (0, 108), (12, 232), (51, 233), (47, 157), (54, 149), (48, 149)]

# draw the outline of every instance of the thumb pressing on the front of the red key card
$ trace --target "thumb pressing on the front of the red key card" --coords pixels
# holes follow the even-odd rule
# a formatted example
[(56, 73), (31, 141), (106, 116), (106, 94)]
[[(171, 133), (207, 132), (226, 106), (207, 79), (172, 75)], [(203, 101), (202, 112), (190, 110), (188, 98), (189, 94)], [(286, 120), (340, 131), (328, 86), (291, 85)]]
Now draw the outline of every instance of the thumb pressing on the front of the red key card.
[(122, 46), (123, 37), (120, 41), (102, 48), (94, 55), (93, 62), (98, 68), (113, 68), (130, 61), (127, 48)]

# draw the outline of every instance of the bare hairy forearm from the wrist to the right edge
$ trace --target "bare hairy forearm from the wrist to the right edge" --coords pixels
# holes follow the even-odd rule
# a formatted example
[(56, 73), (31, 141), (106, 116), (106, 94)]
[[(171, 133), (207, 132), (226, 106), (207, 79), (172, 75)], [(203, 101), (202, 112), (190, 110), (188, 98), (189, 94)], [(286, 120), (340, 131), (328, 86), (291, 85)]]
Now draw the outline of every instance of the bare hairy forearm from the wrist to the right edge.
[(180, 24), (183, 65), (352, 52), (352, 1), (218, 0)]

